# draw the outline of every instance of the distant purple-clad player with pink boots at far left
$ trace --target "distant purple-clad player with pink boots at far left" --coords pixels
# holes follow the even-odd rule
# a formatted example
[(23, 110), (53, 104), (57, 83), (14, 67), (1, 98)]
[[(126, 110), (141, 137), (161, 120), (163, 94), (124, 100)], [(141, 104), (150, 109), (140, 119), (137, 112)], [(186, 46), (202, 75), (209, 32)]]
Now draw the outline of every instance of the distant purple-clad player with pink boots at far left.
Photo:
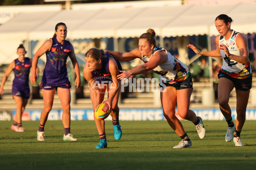
[[(31, 68), (32, 59), (25, 57), (26, 50), (22, 44), (17, 48), (18, 58), (11, 62), (3, 76), (2, 84), (0, 86), (0, 94), (4, 94), (3, 86), (6, 83), (9, 75), (14, 71), (15, 77), (12, 83), (12, 96), (16, 103), (16, 116), (11, 126), (12, 130), (16, 132), (24, 132), (22, 127), (21, 116), (25, 110), (26, 104), (30, 97), (29, 89), (29, 72)], [(35, 68), (38, 73), (38, 68)]]

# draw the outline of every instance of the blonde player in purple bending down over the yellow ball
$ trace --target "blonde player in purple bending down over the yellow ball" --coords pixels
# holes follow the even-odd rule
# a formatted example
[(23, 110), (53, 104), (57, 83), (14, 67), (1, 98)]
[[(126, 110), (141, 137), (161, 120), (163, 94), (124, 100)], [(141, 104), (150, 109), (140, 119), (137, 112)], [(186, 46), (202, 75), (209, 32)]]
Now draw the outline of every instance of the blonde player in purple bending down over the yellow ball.
[[(122, 70), (121, 64), (111, 54), (105, 54), (103, 50), (99, 50), (98, 48), (91, 48), (87, 51), (85, 61), (84, 78), (90, 84), (90, 98), (93, 103), (93, 112), (100, 103), (108, 103), (111, 110), (110, 115), (114, 128), (114, 138), (119, 140), (122, 136), (121, 126), (119, 125), (118, 107), (121, 86), (117, 75)], [(103, 101), (106, 89), (108, 91), (108, 99)], [(94, 121), (100, 138), (100, 142), (96, 148), (105, 148), (108, 146), (105, 134), (105, 121), (98, 120), (95, 116)]]

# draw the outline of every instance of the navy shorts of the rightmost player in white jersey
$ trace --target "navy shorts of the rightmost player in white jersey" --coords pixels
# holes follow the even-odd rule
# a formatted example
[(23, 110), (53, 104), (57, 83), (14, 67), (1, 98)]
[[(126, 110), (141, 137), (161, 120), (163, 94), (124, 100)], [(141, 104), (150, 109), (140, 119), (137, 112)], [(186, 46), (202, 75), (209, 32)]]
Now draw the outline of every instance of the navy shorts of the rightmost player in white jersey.
[(234, 83), (234, 87), (240, 91), (248, 91), (252, 88), (252, 76), (247, 77), (245, 79), (235, 79), (230, 77), (227, 73), (223, 71), (219, 71), (218, 78), (224, 77), (226, 79), (230, 79)]

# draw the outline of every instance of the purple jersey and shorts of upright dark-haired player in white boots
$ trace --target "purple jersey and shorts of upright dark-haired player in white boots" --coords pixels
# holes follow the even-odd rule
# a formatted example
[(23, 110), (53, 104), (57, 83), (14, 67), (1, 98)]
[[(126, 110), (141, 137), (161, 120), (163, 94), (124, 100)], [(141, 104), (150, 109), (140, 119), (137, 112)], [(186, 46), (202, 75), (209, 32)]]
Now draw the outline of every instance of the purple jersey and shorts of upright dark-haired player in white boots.
[(58, 42), (56, 37), (52, 38), (52, 47), (46, 52), (46, 65), (42, 77), (41, 86), (70, 85), (67, 76), (67, 57), (72, 50), (72, 45), (65, 40), (64, 44)]

